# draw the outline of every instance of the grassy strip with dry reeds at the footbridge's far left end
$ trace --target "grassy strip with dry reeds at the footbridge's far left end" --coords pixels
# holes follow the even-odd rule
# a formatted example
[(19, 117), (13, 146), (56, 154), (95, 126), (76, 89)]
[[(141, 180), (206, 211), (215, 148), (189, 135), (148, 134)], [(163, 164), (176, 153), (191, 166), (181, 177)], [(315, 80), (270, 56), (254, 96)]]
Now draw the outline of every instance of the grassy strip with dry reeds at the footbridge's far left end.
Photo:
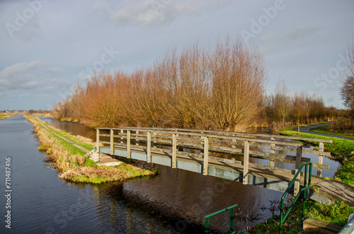
[(142, 167), (147, 167), (147, 165), (142, 165), (139, 168), (135, 165), (135, 161), (132, 160), (114, 167), (98, 166), (93, 160), (85, 157), (86, 152), (81, 151), (79, 148), (72, 146), (67, 141), (47, 131), (40, 123), (45, 124), (46, 127), (56, 134), (64, 136), (87, 150), (91, 150), (94, 146), (90, 139), (82, 136), (73, 136), (65, 131), (55, 129), (55, 127), (46, 124), (38, 119), (38, 117), (26, 117), (33, 124), (35, 134), (40, 141), (41, 145), (38, 147), (38, 150), (47, 153), (47, 161), (50, 161), (59, 170), (59, 177), (63, 180), (103, 183), (156, 174), (156, 170), (151, 165), (148, 166), (150, 170), (145, 170)]

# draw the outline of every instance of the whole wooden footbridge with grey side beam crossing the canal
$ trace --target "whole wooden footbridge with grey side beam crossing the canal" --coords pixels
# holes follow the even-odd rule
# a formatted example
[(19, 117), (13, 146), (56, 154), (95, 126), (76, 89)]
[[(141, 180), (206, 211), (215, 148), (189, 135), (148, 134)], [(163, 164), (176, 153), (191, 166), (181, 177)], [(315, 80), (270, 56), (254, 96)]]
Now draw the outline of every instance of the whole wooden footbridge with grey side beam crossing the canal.
[[(190, 170), (280, 192), (287, 189), (301, 164), (310, 161), (302, 153), (318, 157), (317, 162), (312, 162), (317, 168), (317, 177), (313, 177), (313, 182), (316, 178), (321, 179), (322, 169), (329, 169), (329, 165), (323, 164), (323, 157), (331, 156), (324, 151), (324, 142), (332, 142), (326, 139), (146, 127), (99, 127), (96, 131), (100, 153)], [(319, 148), (306, 149), (309, 146), (297, 140), (319, 142)], [(285, 163), (291, 163), (293, 169), (286, 169)], [(301, 183), (301, 178), (298, 178), (295, 194)]]

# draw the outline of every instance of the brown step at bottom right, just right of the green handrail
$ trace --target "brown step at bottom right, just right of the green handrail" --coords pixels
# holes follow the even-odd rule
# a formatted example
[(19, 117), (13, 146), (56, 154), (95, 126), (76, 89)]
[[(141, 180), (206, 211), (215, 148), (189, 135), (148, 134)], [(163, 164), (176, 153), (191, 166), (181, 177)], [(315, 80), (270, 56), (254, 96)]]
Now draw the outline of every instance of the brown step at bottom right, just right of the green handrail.
[(314, 218), (307, 218), (304, 221), (304, 231), (307, 233), (334, 234), (338, 233), (342, 228), (336, 224), (319, 221)]

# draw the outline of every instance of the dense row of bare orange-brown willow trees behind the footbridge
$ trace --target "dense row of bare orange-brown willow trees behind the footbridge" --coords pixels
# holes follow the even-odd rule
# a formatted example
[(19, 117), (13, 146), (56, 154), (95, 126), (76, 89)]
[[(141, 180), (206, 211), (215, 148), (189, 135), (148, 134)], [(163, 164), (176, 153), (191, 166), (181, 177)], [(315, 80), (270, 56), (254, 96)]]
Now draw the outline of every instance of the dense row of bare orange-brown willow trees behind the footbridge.
[(256, 48), (229, 38), (215, 49), (196, 43), (132, 74), (93, 74), (52, 115), (101, 127), (236, 130), (261, 112), (265, 80)]

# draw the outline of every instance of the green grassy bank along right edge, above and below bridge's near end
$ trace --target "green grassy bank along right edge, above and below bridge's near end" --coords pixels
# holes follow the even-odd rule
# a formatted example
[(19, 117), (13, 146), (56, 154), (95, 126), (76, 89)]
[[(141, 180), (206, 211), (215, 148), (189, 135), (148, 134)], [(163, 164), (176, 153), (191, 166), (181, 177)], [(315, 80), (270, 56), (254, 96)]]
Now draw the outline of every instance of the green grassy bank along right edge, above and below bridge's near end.
[[(328, 136), (305, 134), (301, 132), (298, 134), (297, 131), (292, 131), (293, 128), (294, 127), (287, 127), (285, 128), (285, 131), (280, 131), (280, 134), (317, 139), (331, 139), (333, 143), (325, 143), (324, 148), (326, 151), (331, 152), (333, 159), (342, 163), (342, 167), (336, 172), (335, 178), (337, 180), (341, 180), (347, 185), (354, 186), (354, 141), (336, 139)], [(307, 143), (310, 143), (315, 147), (319, 146), (318, 142), (307, 141)], [(354, 213), (354, 207), (344, 204), (343, 201), (336, 201), (335, 204), (328, 205), (319, 204), (314, 201), (306, 201), (305, 207), (305, 219), (315, 218), (317, 220), (327, 221), (339, 226), (344, 226), (350, 213)], [(298, 201), (284, 223), (283, 233), (299, 233), (301, 231), (301, 211), (302, 202)], [(275, 215), (269, 218), (265, 223), (259, 223), (251, 230), (251, 233), (278, 233), (279, 221), (280, 216)]]

